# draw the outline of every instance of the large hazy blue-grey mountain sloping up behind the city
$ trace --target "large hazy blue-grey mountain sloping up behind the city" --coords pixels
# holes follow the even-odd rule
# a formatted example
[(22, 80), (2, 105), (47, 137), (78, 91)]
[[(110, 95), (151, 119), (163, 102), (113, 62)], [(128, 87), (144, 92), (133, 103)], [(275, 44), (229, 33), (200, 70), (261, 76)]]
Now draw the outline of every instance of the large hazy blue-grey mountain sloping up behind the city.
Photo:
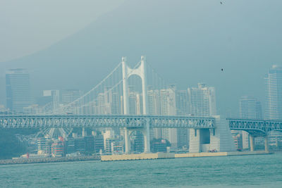
[[(281, 63), (282, 1), (129, 0), (48, 49), (0, 68), (30, 70), (43, 89), (94, 87), (121, 61), (141, 55), (178, 88), (216, 87), (221, 113), (238, 111), (248, 94), (264, 99), (264, 74)], [(221, 72), (223, 68), (223, 72)], [(4, 77), (0, 83), (5, 101)]]

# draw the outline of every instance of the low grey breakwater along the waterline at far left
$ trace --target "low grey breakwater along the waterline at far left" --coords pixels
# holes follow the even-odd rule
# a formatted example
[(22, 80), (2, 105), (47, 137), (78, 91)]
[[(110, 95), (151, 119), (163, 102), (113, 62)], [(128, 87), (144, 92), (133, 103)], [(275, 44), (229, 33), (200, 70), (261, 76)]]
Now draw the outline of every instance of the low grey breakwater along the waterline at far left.
[(99, 161), (99, 156), (75, 156), (60, 158), (16, 158), (0, 160), (0, 165), (30, 164), (30, 163), (59, 163), (71, 161)]

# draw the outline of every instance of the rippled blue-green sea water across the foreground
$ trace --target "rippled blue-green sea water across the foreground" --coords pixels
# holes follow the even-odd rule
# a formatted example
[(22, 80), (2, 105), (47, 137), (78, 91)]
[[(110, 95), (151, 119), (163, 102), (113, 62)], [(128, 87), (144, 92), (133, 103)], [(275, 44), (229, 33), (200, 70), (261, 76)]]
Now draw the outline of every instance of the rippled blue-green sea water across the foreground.
[(282, 154), (1, 165), (0, 187), (282, 187)]

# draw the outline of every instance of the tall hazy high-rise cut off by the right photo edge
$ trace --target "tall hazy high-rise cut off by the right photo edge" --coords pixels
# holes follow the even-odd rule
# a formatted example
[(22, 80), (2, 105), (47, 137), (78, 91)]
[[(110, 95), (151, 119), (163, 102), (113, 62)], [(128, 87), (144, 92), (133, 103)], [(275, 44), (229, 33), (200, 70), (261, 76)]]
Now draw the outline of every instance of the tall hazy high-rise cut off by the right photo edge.
[[(265, 119), (282, 120), (282, 67), (273, 65), (265, 77)], [(281, 132), (270, 132), (269, 144), (282, 142)]]

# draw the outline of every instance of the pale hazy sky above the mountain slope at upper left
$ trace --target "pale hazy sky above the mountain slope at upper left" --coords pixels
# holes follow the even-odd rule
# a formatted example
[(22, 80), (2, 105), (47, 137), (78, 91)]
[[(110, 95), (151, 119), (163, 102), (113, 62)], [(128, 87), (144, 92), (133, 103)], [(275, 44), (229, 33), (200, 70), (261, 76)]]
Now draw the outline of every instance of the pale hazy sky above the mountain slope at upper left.
[(124, 0), (0, 0), (0, 62), (73, 35)]

